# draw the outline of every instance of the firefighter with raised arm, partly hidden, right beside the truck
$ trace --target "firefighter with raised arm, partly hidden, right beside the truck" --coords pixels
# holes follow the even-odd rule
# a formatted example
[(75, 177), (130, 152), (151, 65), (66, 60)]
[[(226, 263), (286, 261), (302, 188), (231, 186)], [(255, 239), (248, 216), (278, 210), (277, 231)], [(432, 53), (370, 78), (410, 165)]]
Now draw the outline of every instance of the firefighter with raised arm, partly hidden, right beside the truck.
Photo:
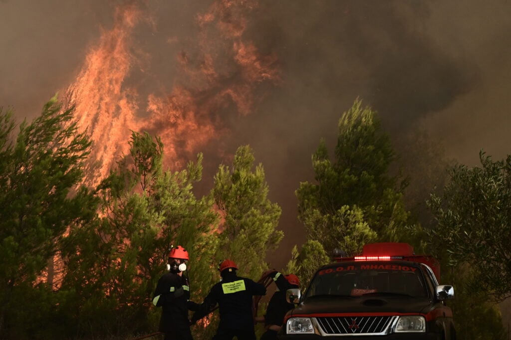
[(277, 333), (282, 327), (286, 313), (294, 308), (294, 304), (286, 301), (286, 290), (291, 288), (299, 288), (300, 280), (294, 274), (282, 275), (276, 270), (270, 270), (263, 274), (269, 275), (275, 285), (275, 293), (271, 296), (266, 307), (266, 314), (264, 317), (257, 318), (256, 321), (264, 322), (266, 331), (261, 335), (260, 340), (274, 340), (277, 338)]

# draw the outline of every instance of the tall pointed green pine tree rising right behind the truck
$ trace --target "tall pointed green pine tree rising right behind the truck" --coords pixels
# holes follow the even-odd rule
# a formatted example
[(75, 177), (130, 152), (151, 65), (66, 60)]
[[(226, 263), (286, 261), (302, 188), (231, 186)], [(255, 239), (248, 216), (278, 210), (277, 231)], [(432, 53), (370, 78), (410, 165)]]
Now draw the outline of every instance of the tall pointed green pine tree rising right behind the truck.
[[(333, 159), (321, 140), (312, 156), (316, 182), (302, 182), (296, 190), (298, 218), (307, 238), (319, 242), (320, 253), (330, 255), (335, 248), (353, 255), (369, 242), (404, 239), (409, 223), (404, 188), (389, 174), (396, 155), (377, 113), (357, 99), (342, 114), (338, 129)], [(306, 261), (305, 253), (300, 254)]]

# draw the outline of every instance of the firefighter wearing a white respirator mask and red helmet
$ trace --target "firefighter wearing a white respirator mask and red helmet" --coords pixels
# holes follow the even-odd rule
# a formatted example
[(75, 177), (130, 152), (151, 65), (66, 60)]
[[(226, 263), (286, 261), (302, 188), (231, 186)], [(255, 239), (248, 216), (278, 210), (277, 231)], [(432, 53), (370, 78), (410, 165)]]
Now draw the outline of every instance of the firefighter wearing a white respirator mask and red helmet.
[(165, 340), (192, 340), (189, 310), (198, 305), (190, 301), (187, 270), (188, 252), (181, 246), (173, 247), (169, 253), (169, 272), (161, 276), (154, 291), (153, 304), (161, 307), (158, 331), (165, 333)]

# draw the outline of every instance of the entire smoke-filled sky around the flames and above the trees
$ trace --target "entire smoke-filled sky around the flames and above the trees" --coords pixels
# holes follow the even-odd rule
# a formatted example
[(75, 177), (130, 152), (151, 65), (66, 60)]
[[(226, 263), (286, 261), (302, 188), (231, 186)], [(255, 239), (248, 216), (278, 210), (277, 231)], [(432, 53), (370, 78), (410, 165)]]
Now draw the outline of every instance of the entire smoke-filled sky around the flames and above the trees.
[[(36, 116), (73, 82), (120, 3), (0, 0), (0, 105), (13, 107), (18, 120)], [(133, 32), (133, 53), (146, 72), (126, 82), (151, 92), (187, 81), (176, 56), (194, 59), (196, 15), (214, 1), (141, 3), (153, 19)], [(283, 209), (288, 252), (304, 240), (294, 191), (313, 180), (312, 153), (320, 138), (333, 148), (338, 119), (356, 98), (379, 112), (395, 141), (420, 126), (459, 162), (477, 164), (480, 149), (504, 157), (511, 149), (509, 17), (508, 0), (261, 0), (243, 34), (275, 56), (281, 82), (255, 90), (262, 100), (251, 113), (219, 115), (230, 132), (202, 150), (205, 186), (222, 157), (250, 144), (270, 199)]]

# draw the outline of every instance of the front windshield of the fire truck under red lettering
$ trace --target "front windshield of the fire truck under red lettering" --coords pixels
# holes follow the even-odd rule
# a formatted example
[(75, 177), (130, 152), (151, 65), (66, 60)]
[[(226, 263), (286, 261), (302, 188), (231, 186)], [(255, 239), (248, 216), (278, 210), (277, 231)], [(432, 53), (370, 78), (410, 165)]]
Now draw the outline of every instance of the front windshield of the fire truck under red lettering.
[(421, 270), (396, 264), (339, 265), (321, 270), (311, 281), (305, 298), (317, 295), (427, 297)]

